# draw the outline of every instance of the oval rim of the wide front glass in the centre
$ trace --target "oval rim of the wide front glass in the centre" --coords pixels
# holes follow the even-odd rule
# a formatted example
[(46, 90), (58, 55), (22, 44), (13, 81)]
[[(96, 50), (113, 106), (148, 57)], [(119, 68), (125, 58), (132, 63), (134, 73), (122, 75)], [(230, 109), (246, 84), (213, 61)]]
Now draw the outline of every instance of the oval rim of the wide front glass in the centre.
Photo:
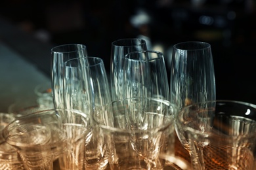
[[(171, 112), (171, 114), (169, 114), (169, 115), (161, 114), (161, 115), (163, 115), (163, 117), (170, 118), (170, 120), (168, 122), (166, 122), (165, 124), (161, 124), (161, 126), (153, 127), (150, 129), (129, 130), (129, 129), (106, 126), (104, 124), (101, 124), (100, 122), (98, 122), (98, 120), (96, 120), (95, 113), (94, 113), (92, 117), (93, 117), (94, 122), (96, 122), (96, 125), (101, 127), (102, 129), (107, 130), (107, 131), (117, 132), (117, 133), (141, 133), (142, 131), (144, 131), (145, 133), (150, 133), (152, 131), (161, 131), (161, 129), (166, 129), (167, 127), (171, 126), (172, 124), (174, 127), (174, 114), (176, 114), (177, 108), (174, 105), (172, 105), (170, 101), (165, 100), (165, 99), (159, 99), (159, 98), (154, 98), (154, 97), (132, 97), (132, 98), (125, 98), (125, 99), (118, 99), (116, 101), (111, 101), (110, 103), (107, 103), (106, 105), (104, 105), (102, 107), (107, 107), (109, 105), (113, 105), (113, 103), (123, 102), (123, 101), (131, 100), (131, 99), (145, 99), (145, 100), (149, 99), (152, 101), (160, 101), (161, 103), (167, 105), (167, 107), (169, 107), (169, 108), (171, 107), (171, 109), (173, 109), (173, 112)], [(100, 107), (100, 108), (102, 108), (102, 107)], [(160, 115), (160, 114), (158, 114), (158, 115)]]

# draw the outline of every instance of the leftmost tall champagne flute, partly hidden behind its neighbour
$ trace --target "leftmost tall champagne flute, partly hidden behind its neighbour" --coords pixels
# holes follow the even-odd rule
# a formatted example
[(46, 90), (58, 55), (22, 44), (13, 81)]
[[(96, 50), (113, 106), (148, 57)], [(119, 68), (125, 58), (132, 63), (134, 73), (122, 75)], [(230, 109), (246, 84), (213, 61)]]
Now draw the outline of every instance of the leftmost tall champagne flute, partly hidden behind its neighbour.
[(63, 44), (51, 49), (51, 82), (55, 109), (64, 109), (64, 62), (68, 61), (68, 59), (85, 56), (87, 56), (87, 48), (83, 44)]

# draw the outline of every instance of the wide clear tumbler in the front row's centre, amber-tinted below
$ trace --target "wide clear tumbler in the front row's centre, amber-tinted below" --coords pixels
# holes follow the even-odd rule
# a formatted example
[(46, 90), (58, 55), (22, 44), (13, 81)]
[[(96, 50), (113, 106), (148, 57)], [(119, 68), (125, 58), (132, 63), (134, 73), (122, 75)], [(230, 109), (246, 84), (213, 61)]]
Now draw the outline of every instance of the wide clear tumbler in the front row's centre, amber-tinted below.
[(175, 108), (169, 101), (129, 98), (96, 110), (110, 169), (163, 169), (160, 154), (174, 154)]

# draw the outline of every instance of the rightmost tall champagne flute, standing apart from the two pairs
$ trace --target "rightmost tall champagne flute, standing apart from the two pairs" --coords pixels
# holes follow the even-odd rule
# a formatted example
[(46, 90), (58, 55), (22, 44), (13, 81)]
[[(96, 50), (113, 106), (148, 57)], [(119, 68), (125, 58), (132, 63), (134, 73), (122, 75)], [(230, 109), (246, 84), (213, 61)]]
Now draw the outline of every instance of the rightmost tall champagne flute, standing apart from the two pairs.
[[(211, 45), (207, 42), (181, 42), (173, 46), (170, 77), (171, 103), (179, 110), (193, 103), (216, 99)], [(181, 144), (190, 152), (179, 124), (175, 124)]]

